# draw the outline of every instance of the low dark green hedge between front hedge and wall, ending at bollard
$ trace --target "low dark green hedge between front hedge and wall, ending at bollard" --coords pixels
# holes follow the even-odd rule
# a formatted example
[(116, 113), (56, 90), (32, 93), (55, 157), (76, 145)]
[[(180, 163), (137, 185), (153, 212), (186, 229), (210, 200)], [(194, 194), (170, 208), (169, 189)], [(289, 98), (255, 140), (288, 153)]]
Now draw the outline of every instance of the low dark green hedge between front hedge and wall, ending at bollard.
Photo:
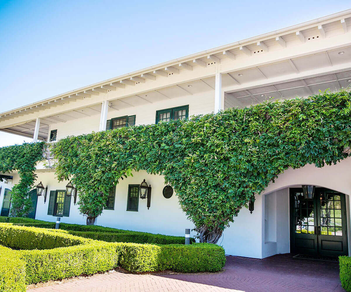
[[(95, 232), (95, 231), (68, 231), (72, 235), (85, 238), (103, 240), (106, 242), (132, 242), (132, 243), (150, 243), (150, 244), (184, 244), (185, 238), (182, 236), (170, 236), (161, 234), (152, 234), (146, 232), (123, 231), (120, 232)], [(191, 242), (195, 242), (191, 238)]]

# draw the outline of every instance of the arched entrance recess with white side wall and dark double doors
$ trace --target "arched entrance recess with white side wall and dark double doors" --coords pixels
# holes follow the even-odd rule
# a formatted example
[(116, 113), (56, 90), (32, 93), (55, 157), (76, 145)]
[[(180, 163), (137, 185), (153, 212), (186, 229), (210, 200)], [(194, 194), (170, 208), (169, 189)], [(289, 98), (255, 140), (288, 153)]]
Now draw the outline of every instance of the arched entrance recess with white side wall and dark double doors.
[(349, 198), (316, 186), (313, 198), (292, 185), (263, 198), (262, 257), (277, 253), (341, 256), (349, 254)]

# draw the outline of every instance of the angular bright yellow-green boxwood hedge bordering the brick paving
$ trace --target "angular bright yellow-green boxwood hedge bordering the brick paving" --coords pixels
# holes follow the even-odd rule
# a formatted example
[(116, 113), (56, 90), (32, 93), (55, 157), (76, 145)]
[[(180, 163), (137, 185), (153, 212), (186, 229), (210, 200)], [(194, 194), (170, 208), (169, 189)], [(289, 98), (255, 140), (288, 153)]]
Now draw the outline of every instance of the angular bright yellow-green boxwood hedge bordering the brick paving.
[[(69, 243), (72, 246), (67, 246)], [(104, 242), (74, 236), (65, 230), (17, 226), (12, 223), (0, 223), (0, 244), (20, 249), (10, 251), (17, 255), (18, 263), (24, 262), (26, 284), (104, 272), (117, 266), (131, 272), (166, 269), (199, 272), (219, 271), (225, 264), (223, 247), (214, 244)], [(8, 254), (0, 253), (0, 263), (6, 262)], [(14, 272), (14, 275), (20, 273)], [(11, 278), (0, 278), (0, 287), (9, 280)]]

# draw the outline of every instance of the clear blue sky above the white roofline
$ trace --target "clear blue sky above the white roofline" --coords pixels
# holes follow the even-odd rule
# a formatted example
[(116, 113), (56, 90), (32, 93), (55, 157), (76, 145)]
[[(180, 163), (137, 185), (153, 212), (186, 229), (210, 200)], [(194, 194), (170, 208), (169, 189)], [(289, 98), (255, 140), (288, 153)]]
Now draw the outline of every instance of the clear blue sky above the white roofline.
[[(0, 112), (348, 8), (344, 0), (0, 0)], [(24, 140), (0, 132), (0, 147)]]

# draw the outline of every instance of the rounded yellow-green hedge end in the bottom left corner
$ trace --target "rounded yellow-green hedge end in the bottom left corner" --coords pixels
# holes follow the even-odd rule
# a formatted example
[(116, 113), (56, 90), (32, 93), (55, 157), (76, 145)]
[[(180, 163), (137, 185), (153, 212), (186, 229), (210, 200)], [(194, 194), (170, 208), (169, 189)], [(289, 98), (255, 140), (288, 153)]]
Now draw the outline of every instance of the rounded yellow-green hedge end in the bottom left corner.
[(18, 252), (0, 245), (0, 291), (25, 292), (25, 262)]

